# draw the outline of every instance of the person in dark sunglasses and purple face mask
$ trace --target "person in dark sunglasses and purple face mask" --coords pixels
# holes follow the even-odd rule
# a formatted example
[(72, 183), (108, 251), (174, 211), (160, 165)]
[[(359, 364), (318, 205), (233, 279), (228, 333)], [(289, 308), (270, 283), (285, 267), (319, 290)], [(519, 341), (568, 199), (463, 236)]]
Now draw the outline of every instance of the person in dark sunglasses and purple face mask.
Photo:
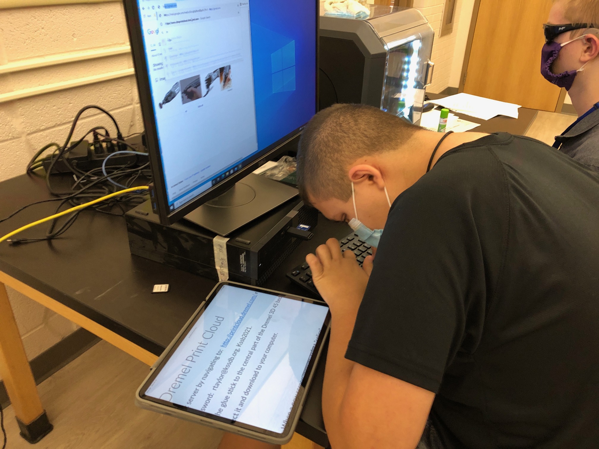
[(599, 0), (554, 0), (544, 30), (541, 74), (579, 116), (553, 147), (599, 172)]

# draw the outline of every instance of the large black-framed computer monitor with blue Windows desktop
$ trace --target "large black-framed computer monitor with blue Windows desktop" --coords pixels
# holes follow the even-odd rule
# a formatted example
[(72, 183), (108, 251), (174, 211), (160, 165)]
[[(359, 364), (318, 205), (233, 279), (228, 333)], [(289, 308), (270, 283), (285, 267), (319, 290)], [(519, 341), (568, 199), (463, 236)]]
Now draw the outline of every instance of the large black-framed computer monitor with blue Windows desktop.
[[(125, 0), (152, 202), (162, 223), (189, 217), (226, 192), (316, 113), (318, 6)], [(258, 198), (259, 187), (250, 190)]]

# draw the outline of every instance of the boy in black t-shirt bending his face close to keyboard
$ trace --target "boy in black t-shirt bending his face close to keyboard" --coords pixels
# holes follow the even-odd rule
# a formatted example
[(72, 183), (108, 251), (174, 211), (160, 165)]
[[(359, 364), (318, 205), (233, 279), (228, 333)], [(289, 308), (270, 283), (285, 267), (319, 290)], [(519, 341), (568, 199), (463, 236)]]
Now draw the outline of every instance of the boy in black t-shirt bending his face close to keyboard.
[(306, 257), (333, 449), (597, 447), (597, 175), (534, 139), (334, 105), (298, 183), (358, 238), (384, 228), (364, 268), (335, 239)]

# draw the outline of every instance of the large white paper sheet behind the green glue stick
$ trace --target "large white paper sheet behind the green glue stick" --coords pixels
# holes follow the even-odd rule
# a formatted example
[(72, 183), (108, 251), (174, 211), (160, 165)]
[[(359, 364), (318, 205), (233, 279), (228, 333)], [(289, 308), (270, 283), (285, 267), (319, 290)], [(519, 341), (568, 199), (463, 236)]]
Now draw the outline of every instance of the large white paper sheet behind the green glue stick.
[(518, 119), (520, 105), (506, 103), (503, 101), (483, 98), (482, 96), (470, 95), (470, 93), (458, 93), (446, 96), (438, 100), (431, 100), (433, 104), (455, 111), (458, 114), (467, 114), (477, 119), (489, 120), (495, 116), (507, 116)]

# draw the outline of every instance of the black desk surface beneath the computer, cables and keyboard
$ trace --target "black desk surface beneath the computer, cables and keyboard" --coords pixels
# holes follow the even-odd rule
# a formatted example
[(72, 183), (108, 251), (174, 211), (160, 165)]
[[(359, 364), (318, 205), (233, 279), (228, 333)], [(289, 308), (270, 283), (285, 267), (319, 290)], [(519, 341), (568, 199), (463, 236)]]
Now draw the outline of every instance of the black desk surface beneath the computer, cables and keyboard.
[[(521, 108), (518, 120), (497, 117), (474, 131), (524, 134), (536, 112)], [(68, 178), (58, 180), (68, 182)], [(0, 198), (0, 217), (5, 217), (23, 205), (51, 197), (43, 178), (21, 175), (0, 183)], [(52, 215), (55, 207), (56, 203), (50, 202), (26, 209), (0, 223), (0, 235)], [(43, 236), (46, 229), (44, 223), (19, 237)], [(346, 225), (319, 216), (314, 238), (302, 242), (271, 275), (265, 287), (310, 296), (292, 284), (285, 273), (302, 263), (305, 254), (313, 252), (326, 239), (343, 238), (349, 232)], [(162, 353), (216, 284), (213, 280), (132, 256), (125, 220), (94, 211), (83, 211), (75, 225), (55, 241), (15, 246), (0, 243), (0, 271), (156, 355)], [(154, 284), (170, 284), (170, 291), (152, 294)], [(326, 446), (320, 409), (323, 372), (324, 363), (320, 363), (297, 430)]]

